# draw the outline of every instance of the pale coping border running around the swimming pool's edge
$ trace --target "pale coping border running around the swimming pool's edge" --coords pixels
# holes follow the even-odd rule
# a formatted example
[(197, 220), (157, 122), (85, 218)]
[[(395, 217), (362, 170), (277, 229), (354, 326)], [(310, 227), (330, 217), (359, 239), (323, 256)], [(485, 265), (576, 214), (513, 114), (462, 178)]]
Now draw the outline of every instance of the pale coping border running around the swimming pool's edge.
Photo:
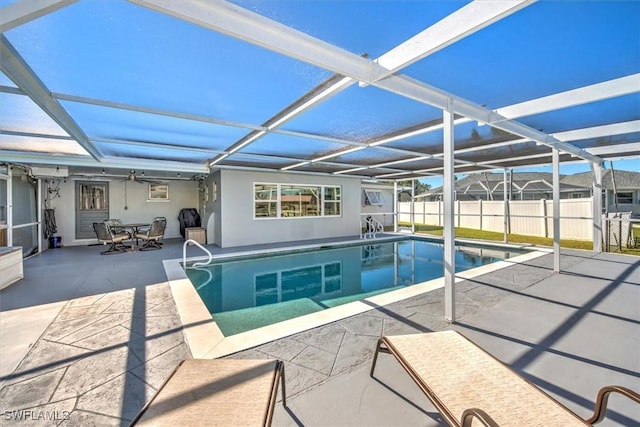
[[(404, 234), (402, 236), (380, 238), (370, 241), (379, 243), (388, 240), (397, 240), (398, 237), (417, 237), (424, 240), (433, 240), (431, 238), (425, 239), (422, 236), (407, 236), (406, 234)], [(477, 241), (462, 239), (457, 240), (457, 242), (479, 244), (479, 242)], [(346, 242), (343, 241), (331, 245), (327, 245), (325, 243), (305, 246), (291, 246), (286, 248), (267, 250), (251, 250), (214, 255), (213, 259), (220, 261), (223, 259), (238, 256), (255, 256), (261, 254), (273, 255), (277, 252), (288, 252), (291, 250), (299, 251), (307, 249), (318, 249), (324, 246), (337, 247), (362, 243), (362, 240), (353, 240)], [(524, 263), (551, 252), (546, 248), (531, 246), (500, 243), (488, 244), (485, 242), (482, 242), (481, 244), (482, 246), (491, 246), (496, 248), (525, 249), (530, 250), (531, 252), (518, 255), (508, 260), (494, 262), (491, 264), (466, 270), (461, 273), (457, 273), (455, 279), (456, 283), (462, 282), (466, 279), (471, 279), (477, 276), (491, 273), (493, 271), (497, 271), (514, 264)], [(202, 258), (189, 258), (188, 261), (198, 261), (201, 259)], [(380, 295), (375, 295), (369, 298), (365, 298), (361, 301), (350, 302), (347, 304), (339, 305), (337, 307), (310, 313), (304, 316), (296, 317), (294, 319), (285, 320), (251, 331), (246, 331), (236, 335), (225, 337), (216, 322), (213, 320), (213, 317), (198, 295), (195, 287), (187, 277), (185, 270), (181, 266), (181, 261), (181, 259), (165, 260), (163, 261), (164, 268), (167, 274), (169, 285), (171, 287), (171, 293), (176, 304), (178, 315), (180, 316), (180, 320), (183, 325), (185, 340), (191, 350), (191, 355), (194, 358), (204, 359), (213, 359), (233, 354), (238, 351), (247, 350), (249, 348), (256, 347), (258, 345), (265, 344), (276, 339), (284, 338), (289, 335), (316, 328), (331, 322), (354, 316), (356, 314), (361, 314), (366, 311), (373, 310), (377, 307), (389, 305), (397, 301), (401, 301), (444, 287), (444, 277), (441, 277), (394, 291), (389, 291)]]

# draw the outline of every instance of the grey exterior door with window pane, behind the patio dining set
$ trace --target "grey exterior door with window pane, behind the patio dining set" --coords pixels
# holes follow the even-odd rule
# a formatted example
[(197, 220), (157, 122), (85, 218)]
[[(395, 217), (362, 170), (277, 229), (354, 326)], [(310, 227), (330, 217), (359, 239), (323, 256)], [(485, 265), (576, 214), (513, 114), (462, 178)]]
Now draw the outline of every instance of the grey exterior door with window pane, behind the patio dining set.
[(109, 219), (109, 183), (76, 181), (76, 239), (96, 237), (94, 222)]

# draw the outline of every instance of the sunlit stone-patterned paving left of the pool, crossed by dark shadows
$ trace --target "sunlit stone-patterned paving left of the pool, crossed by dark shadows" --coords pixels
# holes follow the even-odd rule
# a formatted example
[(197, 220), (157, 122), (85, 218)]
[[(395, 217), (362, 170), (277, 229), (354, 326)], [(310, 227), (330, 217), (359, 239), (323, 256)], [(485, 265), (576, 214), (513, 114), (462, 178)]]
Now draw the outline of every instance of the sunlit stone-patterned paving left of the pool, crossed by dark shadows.
[(20, 362), (0, 402), (62, 425), (120, 425), (188, 357), (167, 284), (77, 298)]

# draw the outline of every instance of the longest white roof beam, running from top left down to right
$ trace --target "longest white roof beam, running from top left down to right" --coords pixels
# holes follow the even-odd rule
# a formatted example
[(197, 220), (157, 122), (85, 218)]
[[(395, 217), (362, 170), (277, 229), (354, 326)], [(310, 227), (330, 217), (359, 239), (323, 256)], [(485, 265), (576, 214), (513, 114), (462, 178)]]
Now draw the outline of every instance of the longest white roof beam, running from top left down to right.
[(167, 0), (130, 1), (442, 110), (449, 108), (449, 101), (453, 100), (455, 106), (453, 113), (495, 126), (523, 138), (530, 138), (552, 148), (562, 149), (585, 160), (602, 163), (602, 159), (578, 147), (418, 80), (401, 75), (389, 75), (382, 80), (377, 80), (379, 76), (388, 73), (387, 69), (377, 63), (233, 4)]

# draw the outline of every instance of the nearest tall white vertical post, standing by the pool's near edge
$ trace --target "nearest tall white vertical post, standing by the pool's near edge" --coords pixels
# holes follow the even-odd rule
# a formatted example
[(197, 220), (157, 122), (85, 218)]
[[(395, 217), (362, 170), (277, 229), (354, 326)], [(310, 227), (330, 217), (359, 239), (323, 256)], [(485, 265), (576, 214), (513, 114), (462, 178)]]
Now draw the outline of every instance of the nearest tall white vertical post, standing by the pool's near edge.
[(454, 132), (453, 105), (442, 111), (444, 121), (444, 176), (442, 196), (444, 201), (444, 317), (448, 322), (456, 320), (455, 271), (456, 247), (454, 229)]

